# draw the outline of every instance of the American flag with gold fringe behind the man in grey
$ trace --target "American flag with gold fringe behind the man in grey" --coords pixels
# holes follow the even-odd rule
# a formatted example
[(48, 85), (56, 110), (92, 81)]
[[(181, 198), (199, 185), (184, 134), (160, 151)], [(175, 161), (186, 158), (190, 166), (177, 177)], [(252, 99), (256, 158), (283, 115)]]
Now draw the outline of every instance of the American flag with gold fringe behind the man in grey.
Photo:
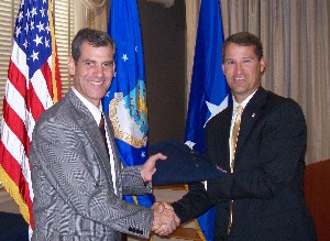
[(29, 162), (40, 114), (61, 99), (51, 0), (22, 0), (13, 31), (0, 142), (0, 180), (33, 228)]

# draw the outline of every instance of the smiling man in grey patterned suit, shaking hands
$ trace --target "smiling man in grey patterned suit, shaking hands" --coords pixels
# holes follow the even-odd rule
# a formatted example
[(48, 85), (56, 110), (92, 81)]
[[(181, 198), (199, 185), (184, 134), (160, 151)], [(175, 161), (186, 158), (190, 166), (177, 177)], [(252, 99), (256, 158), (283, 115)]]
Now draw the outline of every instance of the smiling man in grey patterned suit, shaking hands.
[[(122, 233), (146, 239), (152, 230), (170, 232), (172, 210), (162, 217), (122, 199), (151, 193), (155, 162), (166, 156), (158, 153), (142, 166), (121, 169), (113, 130), (100, 105), (114, 73), (113, 41), (105, 32), (82, 29), (72, 53), (74, 87), (44, 111), (33, 131), (32, 240), (119, 241)], [(102, 117), (106, 140), (98, 127)]]

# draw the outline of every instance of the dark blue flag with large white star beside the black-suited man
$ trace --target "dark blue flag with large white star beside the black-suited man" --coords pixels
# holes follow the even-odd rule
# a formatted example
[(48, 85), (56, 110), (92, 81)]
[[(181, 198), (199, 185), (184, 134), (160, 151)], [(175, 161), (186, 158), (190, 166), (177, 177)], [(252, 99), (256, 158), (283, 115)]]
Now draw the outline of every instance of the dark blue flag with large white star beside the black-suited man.
[[(186, 143), (205, 152), (205, 125), (231, 101), (222, 73), (223, 30), (219, 0), (202, 0), (199, 11)], [(206, 240), (213, 240), (215, 208), (197, 219)]]

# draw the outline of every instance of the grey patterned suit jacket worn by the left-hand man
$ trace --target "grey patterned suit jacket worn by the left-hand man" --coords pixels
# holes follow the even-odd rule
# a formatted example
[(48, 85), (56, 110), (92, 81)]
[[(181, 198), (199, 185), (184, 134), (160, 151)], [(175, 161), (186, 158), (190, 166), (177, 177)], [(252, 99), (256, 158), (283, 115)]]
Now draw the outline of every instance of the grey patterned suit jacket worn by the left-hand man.
[[(110, 127), (109, 118), (106, 118)], [(151, 193), (141, 167), (121, 171), (113, 130), (118, 196), (98, 125), (69, 90), (37, 121), (30, 149), (35, 229), (32, 240), (122, 240), (121, 233), (147, 238), (153, 212), (128, 204), (123, 195)]]

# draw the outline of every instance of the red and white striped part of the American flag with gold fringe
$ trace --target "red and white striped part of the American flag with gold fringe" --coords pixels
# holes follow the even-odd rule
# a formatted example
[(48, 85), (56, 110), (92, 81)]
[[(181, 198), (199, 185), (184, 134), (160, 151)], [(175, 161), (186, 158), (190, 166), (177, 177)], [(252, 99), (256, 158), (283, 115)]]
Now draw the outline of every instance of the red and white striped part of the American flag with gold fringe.
[[(54, 42), (55, 43), (55, 42)], [(55, 59), (54, 59), (55, 57)], [(52, 63), (55, 63), (53, 66)], [(25, 53), (13, 42), (9, 63), (0, 142), (0, 180), (33, 228), (33, 188), (29, 162), (32, 132), (41, 113), (61, 99), (56, 50), (29, 79)], [(53, 72), (55, 74), (53, 75)], [(55, 79), (53, 79), (55, 76)]]

